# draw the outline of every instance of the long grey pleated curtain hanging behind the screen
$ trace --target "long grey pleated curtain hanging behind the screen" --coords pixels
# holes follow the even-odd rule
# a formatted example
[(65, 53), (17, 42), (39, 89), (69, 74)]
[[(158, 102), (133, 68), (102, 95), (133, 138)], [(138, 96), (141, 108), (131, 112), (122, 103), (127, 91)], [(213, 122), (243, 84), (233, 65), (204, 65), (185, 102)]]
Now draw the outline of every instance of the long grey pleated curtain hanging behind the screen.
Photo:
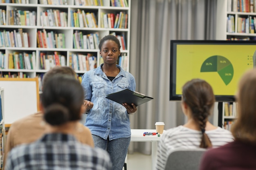
[[(170, 40), (214, 40), (216, 0), (131, 0), (130, 73), (136, 91), (153, 97), (130, 115), (132, 129), (184, 124), (180, 102), (169, 101)], [(150, 142), (131, 142), (128, 153), (151, 153)]]

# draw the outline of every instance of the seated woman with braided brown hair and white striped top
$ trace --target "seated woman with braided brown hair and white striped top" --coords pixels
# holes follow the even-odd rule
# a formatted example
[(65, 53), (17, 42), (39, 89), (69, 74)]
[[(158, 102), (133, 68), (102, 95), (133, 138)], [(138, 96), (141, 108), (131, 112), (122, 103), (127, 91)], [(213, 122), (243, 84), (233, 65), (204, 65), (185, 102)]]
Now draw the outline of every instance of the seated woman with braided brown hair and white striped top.
[(188, 121), (183, 126), (168, 129), (159, 141), (157, 170), (164, 170), (168, 155), (176, 148), (211, 148), (234, 141), (228, 130), (213, 126), (208, 117), (213, 112), (215, 96), (211, 85), (202, 79), (192, 79), (182, 87), (182, 111)]

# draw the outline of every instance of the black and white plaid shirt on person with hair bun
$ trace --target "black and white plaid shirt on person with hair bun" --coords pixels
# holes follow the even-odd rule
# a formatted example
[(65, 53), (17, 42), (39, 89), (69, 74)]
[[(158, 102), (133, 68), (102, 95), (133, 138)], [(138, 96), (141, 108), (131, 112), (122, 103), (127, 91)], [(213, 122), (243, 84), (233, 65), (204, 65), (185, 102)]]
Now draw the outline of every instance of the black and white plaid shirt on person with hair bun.
[(108, 152), (81, 144), (72, 135), (46, 134), (9, 152), (5, 170), (111, 170)]

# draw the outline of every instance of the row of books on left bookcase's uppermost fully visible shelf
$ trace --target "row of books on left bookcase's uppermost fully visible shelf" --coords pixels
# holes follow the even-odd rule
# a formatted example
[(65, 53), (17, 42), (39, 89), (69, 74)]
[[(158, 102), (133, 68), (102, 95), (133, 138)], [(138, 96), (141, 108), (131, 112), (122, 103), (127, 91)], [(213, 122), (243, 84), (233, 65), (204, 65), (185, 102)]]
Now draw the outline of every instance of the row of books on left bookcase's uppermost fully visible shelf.
[[(22, 25), (36, 26), (36, 11), (11, 9), (7, 11), (0, 9), (0, 25)], [(85, 10), (70, 10), (70, 26), (79, 28), (98, 28), (97, 13)], [(8, 21), (6, 20), (8, 17)], [(67, 12), (59, 9), (45, 9), (40, 12), (40, 26), (69, 26), (67, 23)], [(101, 28), (128, 28), (128, 14), (101, 12)]]

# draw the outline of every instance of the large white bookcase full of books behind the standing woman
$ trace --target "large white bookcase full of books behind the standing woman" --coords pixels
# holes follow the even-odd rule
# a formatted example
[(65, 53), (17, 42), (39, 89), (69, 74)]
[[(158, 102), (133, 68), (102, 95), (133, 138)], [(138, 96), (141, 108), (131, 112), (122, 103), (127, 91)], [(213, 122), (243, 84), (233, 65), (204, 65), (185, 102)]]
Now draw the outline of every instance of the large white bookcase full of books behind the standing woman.
[(0, 4), (1, 77), (40, 80), (55, 65), (81, 76), (100, 65), (99, 40), (108, 34), (121, 41), (118, 63), (129, 71), (130, 0), (9, 1), (20, 3)]

